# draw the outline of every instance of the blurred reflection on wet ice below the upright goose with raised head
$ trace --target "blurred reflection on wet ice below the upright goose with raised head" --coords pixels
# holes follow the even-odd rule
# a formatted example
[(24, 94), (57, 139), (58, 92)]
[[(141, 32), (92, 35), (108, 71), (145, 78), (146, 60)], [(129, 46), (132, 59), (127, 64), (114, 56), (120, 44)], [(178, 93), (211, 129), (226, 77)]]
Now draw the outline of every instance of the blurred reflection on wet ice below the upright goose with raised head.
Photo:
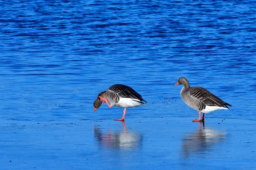
[[(189, 133), (182, 139), (183, 159), (191, 155), (207, 154), (209, 151), (216, 150), (214, 146), (221, 144), (227, 136), (227, 132), (205, 128), (204, 122), (198, 122), (199, 129)], [(201, 127), (203, 124), (203, 128)]]

